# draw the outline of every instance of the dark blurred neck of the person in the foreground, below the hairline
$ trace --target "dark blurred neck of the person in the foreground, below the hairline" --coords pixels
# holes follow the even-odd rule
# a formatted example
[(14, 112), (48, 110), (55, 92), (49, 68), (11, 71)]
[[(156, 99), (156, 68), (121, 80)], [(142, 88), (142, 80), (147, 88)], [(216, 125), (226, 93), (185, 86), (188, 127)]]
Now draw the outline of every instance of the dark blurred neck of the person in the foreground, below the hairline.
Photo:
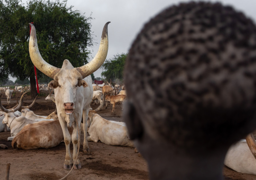
[(148, 162), (150, 179), (223, 179), (228, 147), (205, 153), (182, 152), (170, 144), (156, 141), (143, 147), (138, 144), (138, 147)]

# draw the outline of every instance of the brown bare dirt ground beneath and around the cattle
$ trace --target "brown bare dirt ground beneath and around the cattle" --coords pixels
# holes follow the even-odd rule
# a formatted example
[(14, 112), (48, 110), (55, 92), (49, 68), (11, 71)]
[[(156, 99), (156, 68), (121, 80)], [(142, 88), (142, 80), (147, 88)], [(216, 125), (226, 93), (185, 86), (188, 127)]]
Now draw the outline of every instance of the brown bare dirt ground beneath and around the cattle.
[[(11, 107), (16, 105), (15, 98), (11, 99)], [(31, 102), (30, 96), (25, 97), (24, 105), (29, 105)], [(2, 103), (7, 107), (6, 98), (2, 97)], [(97, 108), (94, 105), (91, 107)], [(38, 115), (47, 116), (55, 110), (55, 105), (52, 101), (46, 101), (45, 97), (39, 97), (31, 110)], [(122, 121), (121, 105), (115, 106), (114, 113), (111, 113), (109, 106), (100, 111), (99, 115), (108, 120)], [(0, 143), (8, 146), (8, 149), (0, 149), (0, 179), (5, 177), (8, 162), (11, 163), (10, 179), (15, 180), (55, 180), (69, 172), (63, 169), (65, 143), (62, 142), (49, 149), (20, 150), (13, 149), (11, 141), (7, 141), (9, 136), (11, 136), (10, 132), (0, 132)], [(81, 142), (83, 142), (83, 134)], [(81, 150), (79, 153), (82, 169), (73, 169), (66, 179), (149, 179), (147, 163), (143, 157), (135, 153), (134, 148), (111, 146), (101, 142), (89, 142), (89, 147), (90, 155)], [(81, 144), (80, 149), (82, 148)], [(255, 175), (235, 172), (228, 167), (224, 167), (223, 173), (225, 180), (256, 179)]]

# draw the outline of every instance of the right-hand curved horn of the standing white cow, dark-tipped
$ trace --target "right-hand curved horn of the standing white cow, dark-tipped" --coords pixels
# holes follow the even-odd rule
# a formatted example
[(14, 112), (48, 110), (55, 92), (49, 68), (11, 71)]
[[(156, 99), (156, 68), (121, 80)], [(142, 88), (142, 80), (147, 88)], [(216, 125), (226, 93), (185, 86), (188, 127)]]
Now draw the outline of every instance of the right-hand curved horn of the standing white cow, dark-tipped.
[(89, 76), (90, 74), (95, 72), (97, 69), (99, 69), (107, 57), (107, 51), (108, 51), (107, 26), (109, 23), (110, 22), (107, 22), (103, 28), (99, 50), (95, 55), (95, 57), (88, 64), (77, 68), (77, 70), (81, 73), (83, 78)]

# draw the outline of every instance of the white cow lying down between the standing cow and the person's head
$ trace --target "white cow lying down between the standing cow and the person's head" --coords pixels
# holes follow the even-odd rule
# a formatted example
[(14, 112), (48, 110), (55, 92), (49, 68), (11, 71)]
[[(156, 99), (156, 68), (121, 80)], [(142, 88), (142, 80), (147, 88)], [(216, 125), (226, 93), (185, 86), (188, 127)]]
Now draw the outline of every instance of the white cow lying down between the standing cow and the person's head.
[(95, 111), (89, 111), (88, 125), (89, 137), (88, 141), (101, 142), (108, 145), (121, 145), (134, 147), (127, 134), (124, 122), (109, 121), (102, 118)]

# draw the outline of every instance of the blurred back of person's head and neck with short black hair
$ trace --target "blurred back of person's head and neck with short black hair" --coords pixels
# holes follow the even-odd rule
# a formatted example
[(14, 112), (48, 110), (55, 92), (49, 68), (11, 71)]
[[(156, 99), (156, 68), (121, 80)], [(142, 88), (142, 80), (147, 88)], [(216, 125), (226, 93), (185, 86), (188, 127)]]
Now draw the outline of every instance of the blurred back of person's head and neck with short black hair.
[(256, 127), (256, 27), (219, 3), (172, 6), (139, 33), (124, 78), (123, 117), (150, 177), (221, 179), (228, 147)]

